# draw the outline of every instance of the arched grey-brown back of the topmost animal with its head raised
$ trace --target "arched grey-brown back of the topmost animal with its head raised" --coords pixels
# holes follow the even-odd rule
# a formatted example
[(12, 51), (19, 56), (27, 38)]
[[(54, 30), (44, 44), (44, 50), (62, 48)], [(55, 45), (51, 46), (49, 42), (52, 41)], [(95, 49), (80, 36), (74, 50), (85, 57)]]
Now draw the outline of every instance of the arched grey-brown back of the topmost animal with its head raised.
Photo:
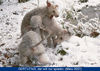
[[(24, 33), (30, 31), (33, 28), (32, 25), (30, 24), (32, 16), (37, 15), (37, 16), (41, 17), (41, 13), (45, 14), (45, 7), (36, 8), (34, 10), (31, 10), (24, 16), (24, 18), (22, 20), (22, 24), (21, 24), (21, 36), (23, 36)], [(38, 21), (38, 19), (36, 19), (36, 21)], [(37, 23), (35, 23), (35, 24), (37, 24)]]

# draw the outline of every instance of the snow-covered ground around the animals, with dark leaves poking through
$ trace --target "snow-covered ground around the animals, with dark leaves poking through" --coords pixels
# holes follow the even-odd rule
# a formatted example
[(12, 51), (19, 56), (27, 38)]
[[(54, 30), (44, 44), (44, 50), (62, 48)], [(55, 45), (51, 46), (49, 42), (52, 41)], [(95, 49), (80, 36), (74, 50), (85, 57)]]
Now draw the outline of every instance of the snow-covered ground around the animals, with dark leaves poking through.
[[(39, 6), (44, 6), (46, 0), (40, 0)], [(65, 26), (78, 26), (79, 23), (82, 28), (82, 33), (87, 34), (88, 36), (78, 37), (73, 35), (69, 41), (64, 41), (60, 45), (54, 48), (46, 48), (46, 54), (49, 56), (52, 65), (47, 66), (61, 66), (61, 67), (100, 67), (100, 35), (93, 38), (90, 37), (88, 33), (91, 33), (91, 28), (94, 28), (100, 33), (100, 0), (89, 0), (87, 3), (80, 4), (78, 0), (54, 0), (59, 4), (59, 11), (61, 11), (61, 17), (58, 18), (58, 22), (62, 21), (63, 10), (66, 8), (71, 11), (72, 8), (75, 10), (82, 9), (82, 13), (85, 17), (80, 21), (80, 16), (73, 22), (64, 21)], [(89, 6), (88, 9), (83, 9), (85, 6)], [(95, 6), (96, 11), (91, 12), (91, 8)], [(20, 26), (21, 21), (24, 15), (30, 10), (38, 7), (37, 0), (30, 0), (26, 3), (17, 3), (17, 0), (4, 0), (4, 3), (0, 5), (0, 67), (4, 66), (15, 66), (18, 60), (18, 51), (17, 47), (20, 43)], [(89, 11), (90, 9), (90, 11)], [(87, 11), (88, 13), (84, 12)], [(96, 15), (95, 15), (96, 13)], [(73, 16), (78, 17), (80, 13), (72, 14)], [(87, 17), (88, 16), (88, 17)], [(72, 20), (70, 20), (72, 21)], [(93, 21), (93, 24), (91, 25)], [(87, 25), (90, 24), (90, 25)], [(72, 27), (69, 27), (69, 31)], [(77, 28), (77, 27), (76, 27)], [(87, 30), (90, 28), (89, 30)]]

